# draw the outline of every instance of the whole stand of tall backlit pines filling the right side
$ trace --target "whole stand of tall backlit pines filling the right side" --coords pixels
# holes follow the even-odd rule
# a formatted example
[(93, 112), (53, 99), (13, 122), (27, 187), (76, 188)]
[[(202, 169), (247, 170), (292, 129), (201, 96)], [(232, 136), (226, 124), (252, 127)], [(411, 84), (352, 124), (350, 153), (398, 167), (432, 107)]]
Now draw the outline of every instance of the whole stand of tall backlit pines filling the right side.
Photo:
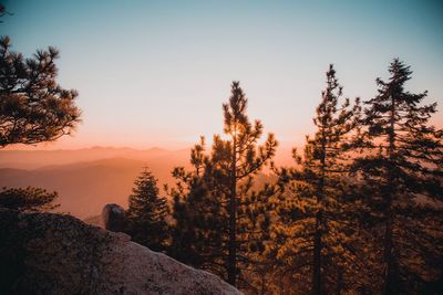
[[(171, 253), (249, 293), (418, 294), (442, 282), (442, 130), (436, 105), (403, 84), (399, 60), (379, 95), (353, 105), (330, 66), (321, 103), (297, 166), (276, 168), (276, 186), (257, 183), (272, 158), (259, 122), (233, 83), (225, 135), (204, 138), (193, 169), (176, 168)], [(233, 234), (234, 233), (234, 234)], [(235, 259), (233, 259), (235, 257)], [(436, 287), (437, 288), (437, 287)]]

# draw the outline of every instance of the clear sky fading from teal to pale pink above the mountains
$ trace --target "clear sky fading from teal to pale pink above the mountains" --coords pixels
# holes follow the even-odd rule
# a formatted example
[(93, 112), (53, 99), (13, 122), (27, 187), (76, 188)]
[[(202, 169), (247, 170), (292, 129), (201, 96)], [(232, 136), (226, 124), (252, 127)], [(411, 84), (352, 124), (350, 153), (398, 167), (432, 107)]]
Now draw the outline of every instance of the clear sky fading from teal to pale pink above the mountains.
[(188, 147), (223, 133), (233, 81), (265, 133), (302, 145), (330, 63), (344, 96), (364, 101), (400, 57), (406, 88), (443, 110), (443, 1), (1, 2), (12, 50), (58, 48), (59, 83), (80, 93), (76, 133), (35, 148)]

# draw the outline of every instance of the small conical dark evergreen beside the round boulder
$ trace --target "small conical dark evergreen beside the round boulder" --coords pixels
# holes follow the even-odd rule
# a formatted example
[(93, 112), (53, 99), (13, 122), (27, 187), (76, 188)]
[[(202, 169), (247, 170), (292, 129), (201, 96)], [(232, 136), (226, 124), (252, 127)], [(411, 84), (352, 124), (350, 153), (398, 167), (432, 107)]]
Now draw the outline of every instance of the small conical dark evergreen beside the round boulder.
[(164, 251), (168, 241), (166, 198), (158, 196), (157, 180), (145, 168), (128, 198), (127, 220), (132, 239), (154, 251)]

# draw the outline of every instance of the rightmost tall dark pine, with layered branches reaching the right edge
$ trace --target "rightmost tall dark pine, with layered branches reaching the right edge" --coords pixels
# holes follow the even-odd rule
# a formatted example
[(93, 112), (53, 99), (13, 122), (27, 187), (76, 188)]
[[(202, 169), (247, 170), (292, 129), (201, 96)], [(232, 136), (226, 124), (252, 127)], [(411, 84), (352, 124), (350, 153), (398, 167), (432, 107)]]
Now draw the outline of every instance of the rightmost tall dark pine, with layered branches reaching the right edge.
[(422, 105), (427, 93), (404, 89), (410, 66), (395, 59), (389, 73), (365, 102), (354, 170), (383, 251), (383, 293), (415, 294), (442, 278), (443, 131), (429, 125), (436, 104)]

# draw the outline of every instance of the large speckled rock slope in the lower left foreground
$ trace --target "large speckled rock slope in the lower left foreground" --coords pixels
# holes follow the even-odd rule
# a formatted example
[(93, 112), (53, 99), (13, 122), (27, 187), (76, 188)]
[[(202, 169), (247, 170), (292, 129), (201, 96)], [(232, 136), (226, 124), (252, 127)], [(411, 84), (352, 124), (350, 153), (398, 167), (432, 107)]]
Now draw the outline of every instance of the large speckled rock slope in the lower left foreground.
[(51, 213), (0, 209), (2, 294), (240, 294), (219, 277)]

